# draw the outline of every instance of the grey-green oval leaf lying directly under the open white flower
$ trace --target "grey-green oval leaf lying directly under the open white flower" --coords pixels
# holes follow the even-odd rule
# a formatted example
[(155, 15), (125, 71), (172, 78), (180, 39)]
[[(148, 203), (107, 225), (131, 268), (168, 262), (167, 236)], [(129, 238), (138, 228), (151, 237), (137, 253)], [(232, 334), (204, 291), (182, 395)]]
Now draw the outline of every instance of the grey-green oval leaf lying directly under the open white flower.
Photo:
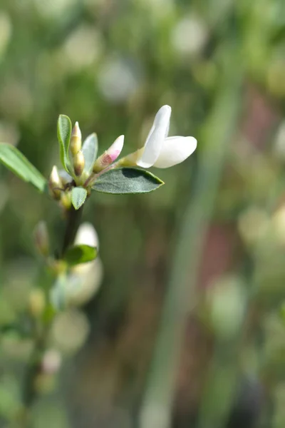
[(136, 168), (117, 168), (103, 173), (95, 181), (93, 190), (103, 193), (146, 193), (164, 184), (146, 170)]

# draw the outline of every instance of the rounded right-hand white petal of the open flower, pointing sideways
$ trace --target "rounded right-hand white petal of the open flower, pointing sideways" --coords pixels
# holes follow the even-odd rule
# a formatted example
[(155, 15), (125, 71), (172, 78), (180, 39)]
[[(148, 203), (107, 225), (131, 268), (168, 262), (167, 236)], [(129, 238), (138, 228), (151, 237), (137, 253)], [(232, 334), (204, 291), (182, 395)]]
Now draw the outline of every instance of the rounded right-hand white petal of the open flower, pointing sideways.
[(169, 137), (163, 141), (160, 155), (153, 166), (156, 168), (169, 168), (185, 161), (197, 147), (194, 137)]

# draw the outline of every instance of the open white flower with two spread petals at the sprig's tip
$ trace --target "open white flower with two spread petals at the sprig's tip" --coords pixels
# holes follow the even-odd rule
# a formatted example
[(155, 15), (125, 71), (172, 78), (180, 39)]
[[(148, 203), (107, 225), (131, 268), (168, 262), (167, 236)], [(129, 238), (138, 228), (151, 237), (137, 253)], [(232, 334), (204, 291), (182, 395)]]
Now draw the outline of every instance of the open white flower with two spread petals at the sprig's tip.
[(155, 116), (145, 146), (137, 152), (135, 163), (142, 168), (169, 168), (185, 161), (197, 147), (194, 137), (167, 137), (171, 107), (162, 106)]

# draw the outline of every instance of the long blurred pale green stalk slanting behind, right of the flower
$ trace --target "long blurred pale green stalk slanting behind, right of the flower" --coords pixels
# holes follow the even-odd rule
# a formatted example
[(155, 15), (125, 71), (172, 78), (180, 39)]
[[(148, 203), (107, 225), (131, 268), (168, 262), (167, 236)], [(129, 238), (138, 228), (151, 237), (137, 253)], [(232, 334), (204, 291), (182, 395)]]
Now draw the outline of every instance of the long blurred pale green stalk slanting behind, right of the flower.
[(237, 128), (242, 71), (234, 48), (227, 51), (221, 86), (209, 114), (192, 197), (185, 211), (162, 308), (160, 331), (139, 415), (140, 428), (169, 428), (175, 378), (187, 317), (195, 305), (195, 285), (204, 238), (212, 218), (224, 161)]

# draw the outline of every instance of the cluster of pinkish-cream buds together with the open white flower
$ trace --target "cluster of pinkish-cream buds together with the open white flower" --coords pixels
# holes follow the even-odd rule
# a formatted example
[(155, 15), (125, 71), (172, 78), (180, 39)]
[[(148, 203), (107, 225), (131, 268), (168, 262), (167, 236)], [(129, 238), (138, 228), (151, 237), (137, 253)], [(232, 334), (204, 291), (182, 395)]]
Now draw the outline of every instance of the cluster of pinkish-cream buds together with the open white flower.
[[(152, 128), (144, 146), (129, 155), (120, 158), (124, 145), (124, 136), (119, 136), (114, 143), (95, 158), (97, 153), (97, 138), (92, 134), (82, 144), (81, 130), (78, 122), (71, 131), (69, 153), (66, 153), (68, 165), (64, 163), (65, 171), (59, 172), (56, 166), (51, 171), (49, 179), (50, 193), (61, 202), (64, 208), (71, 206), (71, 192), (76, 186), (90, 189), (99, 175), (108, 170), (120, 167), (169, 168), (185, 161), (196, 149), (197, 140), (194, 137), (168, 136), (170, 128), (170, 106), (162, 106), (155, 116)], [(70, 120), (68, 119), (69, 123)], [(68, 171), (68, 172), (66, 172)], [(84, 193), (84, 192), (83, 192)]]

